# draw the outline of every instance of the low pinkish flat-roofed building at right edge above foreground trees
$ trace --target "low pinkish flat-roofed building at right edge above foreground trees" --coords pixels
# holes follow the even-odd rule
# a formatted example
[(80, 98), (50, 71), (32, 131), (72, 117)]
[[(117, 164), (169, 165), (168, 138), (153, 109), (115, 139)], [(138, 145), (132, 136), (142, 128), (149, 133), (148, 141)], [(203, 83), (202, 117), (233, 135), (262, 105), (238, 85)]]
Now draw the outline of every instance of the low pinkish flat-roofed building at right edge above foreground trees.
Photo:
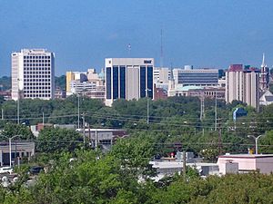
[(273, 172), (273, 154), (226, 154), (218, 156), (217, 164), (223, 175), (254, 170), (269, 174)]

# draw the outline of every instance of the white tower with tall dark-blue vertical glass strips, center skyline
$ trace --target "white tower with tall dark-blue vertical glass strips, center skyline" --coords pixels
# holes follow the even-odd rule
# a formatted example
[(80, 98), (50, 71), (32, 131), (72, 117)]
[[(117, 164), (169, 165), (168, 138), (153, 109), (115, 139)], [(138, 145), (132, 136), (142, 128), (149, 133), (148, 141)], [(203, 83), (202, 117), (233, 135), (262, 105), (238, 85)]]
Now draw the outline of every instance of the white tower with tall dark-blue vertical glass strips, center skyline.
[(154, 98), (153, 58), (106, 58), (106, 105), (115, 99)]

